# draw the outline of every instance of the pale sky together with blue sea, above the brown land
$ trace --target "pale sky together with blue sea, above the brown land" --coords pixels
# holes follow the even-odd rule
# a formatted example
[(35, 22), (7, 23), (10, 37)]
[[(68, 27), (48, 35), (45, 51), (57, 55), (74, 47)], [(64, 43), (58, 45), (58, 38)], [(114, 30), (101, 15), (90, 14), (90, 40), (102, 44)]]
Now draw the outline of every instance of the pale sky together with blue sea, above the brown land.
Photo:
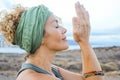
[[(67, 28), (69, 49), (79, 49), (72, 37), (72, 17), (76, 16), (74, 3), (80, 3), (90, 15), (91, 36), (93, 47), (120, 46), (120, 0), (0, 0), (0, 10), (12, 10), (13, 6), (21, 4), (24, 7), (44, 4), (62, 19), (62, 25)], [(0, 46), (5, 47), (0, 34)], [(1, 51), (1, 50), (0, 50)]]

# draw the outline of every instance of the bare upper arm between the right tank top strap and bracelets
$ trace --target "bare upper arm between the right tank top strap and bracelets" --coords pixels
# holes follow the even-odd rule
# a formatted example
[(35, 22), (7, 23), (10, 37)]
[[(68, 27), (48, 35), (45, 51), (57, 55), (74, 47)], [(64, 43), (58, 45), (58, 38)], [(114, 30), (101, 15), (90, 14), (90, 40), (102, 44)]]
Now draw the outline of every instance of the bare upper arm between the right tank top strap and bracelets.
[(60, 67), (56, 68), (60, 72), (64, 80), (85, 80), (83, 76), (79, 73), (74, 73)]

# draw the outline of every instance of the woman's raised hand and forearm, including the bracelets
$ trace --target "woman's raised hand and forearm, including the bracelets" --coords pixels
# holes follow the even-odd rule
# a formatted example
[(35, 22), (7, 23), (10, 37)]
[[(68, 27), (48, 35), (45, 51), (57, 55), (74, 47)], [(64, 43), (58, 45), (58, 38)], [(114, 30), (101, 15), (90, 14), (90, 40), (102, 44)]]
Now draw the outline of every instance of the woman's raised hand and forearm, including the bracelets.
[[(89, 43), (90, 36), (90, 21), (89, 14), (85, 8), (77, 2), (75, 4), (77, 17), (74, 17), (73, 22), (73, 37), (74, 40), (80, 45), (82, 51), (83, 74), (85, 80), (102, 80), (100, 63), (96, 57), (94, 50)], [(95, 72), (94, 72), (95, 71)], [(96, 72), (97, 71), (97, 72)], [(92, 75), (92, 77), (90, 77)], [(88, 77), (89, 76), (89, 77)]]

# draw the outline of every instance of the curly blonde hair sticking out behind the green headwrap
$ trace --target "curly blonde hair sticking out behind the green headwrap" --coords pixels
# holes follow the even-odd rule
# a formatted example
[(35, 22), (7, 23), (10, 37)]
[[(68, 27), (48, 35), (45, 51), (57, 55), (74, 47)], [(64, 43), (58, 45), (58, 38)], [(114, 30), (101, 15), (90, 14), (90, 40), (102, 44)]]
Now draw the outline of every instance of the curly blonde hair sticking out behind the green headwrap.
[(14, 43), (15, 30), (24, 10), (21, 5), (16, 5), (11, 12), (0, 12), (0, 32), (10, 43)]

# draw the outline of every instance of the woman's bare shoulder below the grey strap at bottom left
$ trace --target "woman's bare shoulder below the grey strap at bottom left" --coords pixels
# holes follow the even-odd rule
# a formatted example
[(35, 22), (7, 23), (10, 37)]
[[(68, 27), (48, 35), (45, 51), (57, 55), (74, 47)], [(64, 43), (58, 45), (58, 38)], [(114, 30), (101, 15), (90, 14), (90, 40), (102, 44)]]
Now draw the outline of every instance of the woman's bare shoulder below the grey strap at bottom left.
[(27, 69), (21, 72), (16, 80), (56, 80), (56, 78)]

